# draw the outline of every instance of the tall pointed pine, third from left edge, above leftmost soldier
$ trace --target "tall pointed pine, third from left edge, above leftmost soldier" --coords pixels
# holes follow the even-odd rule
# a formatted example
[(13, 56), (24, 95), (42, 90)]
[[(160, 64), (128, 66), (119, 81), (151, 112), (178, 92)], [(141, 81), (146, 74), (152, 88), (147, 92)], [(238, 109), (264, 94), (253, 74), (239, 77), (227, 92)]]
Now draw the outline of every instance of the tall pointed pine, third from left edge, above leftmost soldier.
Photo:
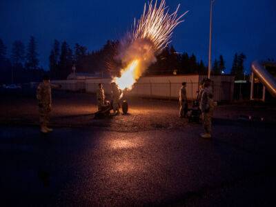
[(39, 59), (37, 54), (37, 42), (34, 37), (30, 37), (30, 42), (28, 44), (28, 50), (26, 55), (26, 68), (30, 70), (37, 69), (39, 66)]

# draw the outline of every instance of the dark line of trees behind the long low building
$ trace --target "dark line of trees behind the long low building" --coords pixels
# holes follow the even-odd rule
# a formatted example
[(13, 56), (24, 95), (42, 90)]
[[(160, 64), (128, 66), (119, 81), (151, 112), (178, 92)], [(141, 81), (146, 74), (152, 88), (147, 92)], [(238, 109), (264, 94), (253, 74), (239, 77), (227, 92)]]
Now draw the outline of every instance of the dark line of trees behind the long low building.
[[(52, 79), (66, 79), (72, 68), (75, 68), (76, 72), (99, 72), (104, 77), (118, 76), (120, 69), (124, 67), (118, 58), (119, 48), (119, 41), (108, 40), (99, 50), (89, 52), (86, 46), (79, 43), (75, 43), (71, 48), (66, 41), (55, 40), (50, 50), (49, 70), (43, 70), (39, 67), (37, 41), (34, 37), (30, 37), (27, 47), (20, 40), (14, 41), (10, 57), (7, 55), (7, 47), (0, 39), (0, 83), (39, 81), (44, 74), (49, 74)], [(230, 73), (237, 79), (244, 77), (245, 59), (243, 53), (234, 55)], [(221, 75), (225, 70), (224, 57), (219, 55), (218, 59), (213, 61), (212, 74)], [(144, 76), (206, 75), (207, 72), (204, 61), (198, 60), (195, 54), (179, 53), (173, 46), (168, 46), (157, 55), (157, 61), (146, 70)]]

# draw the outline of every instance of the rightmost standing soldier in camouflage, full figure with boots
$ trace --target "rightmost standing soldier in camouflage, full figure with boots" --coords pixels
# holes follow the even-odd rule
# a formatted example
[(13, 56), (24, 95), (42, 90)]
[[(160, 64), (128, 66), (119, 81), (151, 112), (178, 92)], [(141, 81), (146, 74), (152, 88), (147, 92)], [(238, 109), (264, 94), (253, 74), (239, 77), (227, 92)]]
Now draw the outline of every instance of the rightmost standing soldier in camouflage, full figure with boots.
[(213, 90), (211, 85), (212, 81), (210, 81), (210, 79), (204, 81), (201, 101), (199, 104), (199, 108), (202, 112), (202, 122), (205, 130), (205, 133), (201, 134), (200, 136), (206, 139), (211, 138), (212, 117), (214, 110)]

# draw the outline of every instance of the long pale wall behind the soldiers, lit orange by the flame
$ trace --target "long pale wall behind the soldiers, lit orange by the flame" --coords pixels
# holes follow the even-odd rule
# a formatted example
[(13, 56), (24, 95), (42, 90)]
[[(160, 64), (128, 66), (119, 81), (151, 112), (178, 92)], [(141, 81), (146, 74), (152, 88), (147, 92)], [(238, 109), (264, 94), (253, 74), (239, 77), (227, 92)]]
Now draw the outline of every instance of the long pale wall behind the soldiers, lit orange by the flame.
[[(230, 77), (230, 76), (229, 76)], [(202, 79), (199, 75), (186, 75), (186, 76), (157, 76), (157, 77), (141, 77), (133, 86), (132, 90), (125, 92), (127, 95), (139, 97), (156, 97), (165, 99), (178, 99), (179, 89), (181, 83), (186, 82), (187, 98), (193, 100), (197, 97), (197, 90), (199, 90), (199, 81)], [(214, 99), (215, 101), (227, 100), (231, 101), (233, 98), (232, 78), (221, 78), (221, 76), (212, 77), (214, 80)], [(83, 80), (63, 80), (52, 81), (59, 83), (63, 90), (78, 91), (83, 90), (86, 92), (95, 93), (98, 84), (102, 83), (106, 94), (110, 94), (110, 83), (112, 79), (83, 79)], [(222, 81), (222, 82), (221, 82)], [(226, 90), (224, 83), (228, 83)], [(228, 91), (229, 90), (229, 91)], [(227, 91), (228, 95), (225, 95)]]

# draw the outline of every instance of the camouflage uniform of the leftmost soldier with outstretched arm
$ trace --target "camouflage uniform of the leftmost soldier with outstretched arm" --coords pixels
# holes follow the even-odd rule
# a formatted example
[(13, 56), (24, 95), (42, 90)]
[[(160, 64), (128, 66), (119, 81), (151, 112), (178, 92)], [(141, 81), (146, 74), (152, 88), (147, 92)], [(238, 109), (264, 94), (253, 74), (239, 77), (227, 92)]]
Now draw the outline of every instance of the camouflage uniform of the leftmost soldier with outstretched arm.
[(39, 101), (39, 122), (41, 126), (49, 123), (49, 113), (52, 109), (52, 88), (59, 88), (50, 83), (39, 83), (37, 87), (37, 100)]

